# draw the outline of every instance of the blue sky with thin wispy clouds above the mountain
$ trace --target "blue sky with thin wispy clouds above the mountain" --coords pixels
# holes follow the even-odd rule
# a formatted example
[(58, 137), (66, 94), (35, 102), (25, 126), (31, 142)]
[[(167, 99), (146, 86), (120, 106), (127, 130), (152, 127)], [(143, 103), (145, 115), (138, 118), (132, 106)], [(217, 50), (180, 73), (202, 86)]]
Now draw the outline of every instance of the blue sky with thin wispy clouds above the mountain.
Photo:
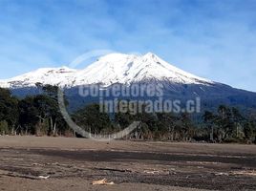
[(0, 0), (0, 78), (81, 53), (156, 53), (256, 92), (256, 0)]

